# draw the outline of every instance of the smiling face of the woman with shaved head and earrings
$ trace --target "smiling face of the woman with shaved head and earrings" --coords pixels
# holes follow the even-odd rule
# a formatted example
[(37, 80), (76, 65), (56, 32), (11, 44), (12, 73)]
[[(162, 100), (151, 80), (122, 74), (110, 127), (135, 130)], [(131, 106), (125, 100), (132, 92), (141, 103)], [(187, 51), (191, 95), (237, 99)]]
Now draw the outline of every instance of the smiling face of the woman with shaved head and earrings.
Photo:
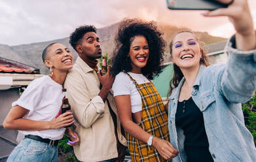
[(45, 65), (59, 71), (68, 71), (73, 67), (73, 56), (63, 44), (55, 43), (47, 50)]

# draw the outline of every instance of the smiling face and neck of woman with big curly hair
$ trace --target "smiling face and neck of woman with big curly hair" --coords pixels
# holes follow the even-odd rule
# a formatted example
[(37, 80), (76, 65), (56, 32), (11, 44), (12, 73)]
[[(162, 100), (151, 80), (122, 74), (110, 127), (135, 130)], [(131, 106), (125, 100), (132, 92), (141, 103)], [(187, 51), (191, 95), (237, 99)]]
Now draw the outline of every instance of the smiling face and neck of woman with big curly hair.
[(141, 73), (141, 68), (147, 65), (149, 59), (149, 44), (144, 36), (135, 36), (130, 45), (129, 57), (132, 63), (132, 73)]

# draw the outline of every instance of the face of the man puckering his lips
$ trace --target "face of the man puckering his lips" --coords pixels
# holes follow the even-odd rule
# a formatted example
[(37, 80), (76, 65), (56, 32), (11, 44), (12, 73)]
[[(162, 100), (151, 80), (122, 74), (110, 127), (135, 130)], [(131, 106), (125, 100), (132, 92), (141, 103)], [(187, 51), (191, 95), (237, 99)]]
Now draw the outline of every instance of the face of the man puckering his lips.
[(101, 48), (98, 35), (92, 31), (85, 33), (81, 42), (77, 44), (77, 52), (82, 59), (95, 60), (100, 58)]

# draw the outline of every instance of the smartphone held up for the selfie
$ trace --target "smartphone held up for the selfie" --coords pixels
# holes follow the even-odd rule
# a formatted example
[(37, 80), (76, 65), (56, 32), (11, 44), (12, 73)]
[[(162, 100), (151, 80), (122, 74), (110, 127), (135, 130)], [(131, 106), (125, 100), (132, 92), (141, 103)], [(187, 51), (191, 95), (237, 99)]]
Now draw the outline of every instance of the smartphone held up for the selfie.
[(166, 3), (171, 10), (215, 10), (228, 7), (215, 0), (166, 0)]

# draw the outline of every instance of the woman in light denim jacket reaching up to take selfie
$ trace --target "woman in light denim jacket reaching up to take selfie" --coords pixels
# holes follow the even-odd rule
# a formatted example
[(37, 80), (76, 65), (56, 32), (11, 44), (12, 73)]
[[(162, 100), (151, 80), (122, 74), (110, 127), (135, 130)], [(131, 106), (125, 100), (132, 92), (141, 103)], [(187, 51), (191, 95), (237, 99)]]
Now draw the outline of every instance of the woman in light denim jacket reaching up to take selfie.
[(255, 162), (241, 108), (256, 87), (256, 37), (247, 1), (234, 0), (204, 16), (229, 16), (237, 33), (226, 46), (228, 63), (210, 67), (191, 31), (172, 40), (168, 125), (170, 142), (179, 151), (173, 161)]

